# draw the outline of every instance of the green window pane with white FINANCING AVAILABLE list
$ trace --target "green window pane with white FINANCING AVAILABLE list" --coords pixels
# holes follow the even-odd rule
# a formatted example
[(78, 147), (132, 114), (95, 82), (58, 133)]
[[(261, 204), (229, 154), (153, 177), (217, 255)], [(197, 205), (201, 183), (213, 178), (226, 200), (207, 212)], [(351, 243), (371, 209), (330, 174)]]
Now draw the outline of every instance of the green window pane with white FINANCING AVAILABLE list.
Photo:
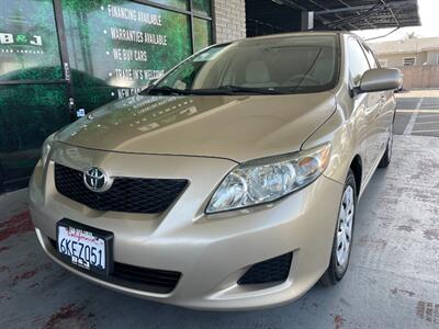
[(133, 1), (63, 0), (76, 104), (136, 93), (191, 55), (190, 16)]

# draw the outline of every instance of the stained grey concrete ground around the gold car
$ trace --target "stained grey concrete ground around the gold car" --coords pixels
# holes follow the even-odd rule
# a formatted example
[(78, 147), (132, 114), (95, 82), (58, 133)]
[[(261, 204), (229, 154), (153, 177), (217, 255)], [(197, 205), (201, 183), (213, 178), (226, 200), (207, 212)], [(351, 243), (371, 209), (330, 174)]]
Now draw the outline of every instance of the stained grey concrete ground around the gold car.
[(120, 295), (43, 253), (22, 190), (0, 196), (0, 328), (439, 328), (439, 124), (425, 116), (439, 122), (432, 94), (398, 95), (394, 158), (360, 201), (350, 269), (339, 285), (245, 313)]

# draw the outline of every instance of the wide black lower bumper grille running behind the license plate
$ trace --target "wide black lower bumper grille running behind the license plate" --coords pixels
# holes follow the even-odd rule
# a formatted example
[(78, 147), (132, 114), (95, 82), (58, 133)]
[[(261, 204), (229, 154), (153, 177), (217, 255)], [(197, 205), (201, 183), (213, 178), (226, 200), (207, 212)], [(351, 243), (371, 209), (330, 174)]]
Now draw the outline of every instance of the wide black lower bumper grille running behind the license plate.
[[(54, 248), (55, 257), (64, 262), (56, 252), (56, 241), (54, 239), (49, 239), (49, 241)], [(119, 262), (114, 262), (113, 272), (109, 276), (87, 272), (81, 268), (75, 269), (110, 283), (158, 294), (168, 294), (172, 292), (181, 277), (180, 272), (146, 269)]]

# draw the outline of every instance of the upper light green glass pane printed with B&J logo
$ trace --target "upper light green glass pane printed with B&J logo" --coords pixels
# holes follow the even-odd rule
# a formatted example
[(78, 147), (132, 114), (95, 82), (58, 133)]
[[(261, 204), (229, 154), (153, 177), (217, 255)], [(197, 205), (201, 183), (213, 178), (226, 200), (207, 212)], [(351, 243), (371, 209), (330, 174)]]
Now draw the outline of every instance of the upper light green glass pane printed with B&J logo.
[(61, 78), (52, 0), (0, 0), (0, 81)]

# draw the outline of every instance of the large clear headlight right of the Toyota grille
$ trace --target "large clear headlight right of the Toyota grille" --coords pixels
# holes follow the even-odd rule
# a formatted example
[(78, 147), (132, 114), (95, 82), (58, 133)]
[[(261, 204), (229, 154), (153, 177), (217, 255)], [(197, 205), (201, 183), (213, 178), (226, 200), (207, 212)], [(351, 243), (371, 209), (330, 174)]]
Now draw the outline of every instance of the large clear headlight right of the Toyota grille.
[(206, 213), (275, 201), (314, 182), (326, 169), (330, 144), (315, 149), (249, 161), (232, 170), (213, 194)]

